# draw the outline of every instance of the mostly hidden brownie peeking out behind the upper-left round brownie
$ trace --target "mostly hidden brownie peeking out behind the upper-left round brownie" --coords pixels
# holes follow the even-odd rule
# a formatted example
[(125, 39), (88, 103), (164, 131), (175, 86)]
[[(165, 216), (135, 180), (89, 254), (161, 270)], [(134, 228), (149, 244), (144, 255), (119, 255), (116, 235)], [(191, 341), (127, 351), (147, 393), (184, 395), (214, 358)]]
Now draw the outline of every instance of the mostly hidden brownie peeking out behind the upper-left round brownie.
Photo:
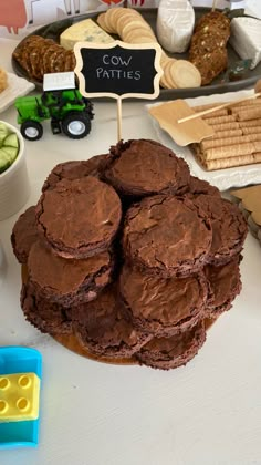
[(44, 182), (42, 192), (53, 188), (62, 179), (73, 180), (86, 176), (98, 177), (106, 166), (107, 156), (96, 155), (86, 161), (59, 163)]

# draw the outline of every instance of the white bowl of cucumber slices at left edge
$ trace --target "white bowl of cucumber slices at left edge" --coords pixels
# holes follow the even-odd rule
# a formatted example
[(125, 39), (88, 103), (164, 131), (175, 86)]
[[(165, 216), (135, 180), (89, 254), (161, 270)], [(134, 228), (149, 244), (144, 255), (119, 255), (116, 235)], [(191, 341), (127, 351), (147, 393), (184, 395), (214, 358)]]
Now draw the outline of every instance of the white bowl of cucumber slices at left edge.
[(20, 132), (6, 121), (0, 121), (15, 133), (19, 140), (19, 154), (12, 165), (0, 174), (0, 221), (14, 215), (27, 203), (30, 184), (27, 169), (24, 141)]

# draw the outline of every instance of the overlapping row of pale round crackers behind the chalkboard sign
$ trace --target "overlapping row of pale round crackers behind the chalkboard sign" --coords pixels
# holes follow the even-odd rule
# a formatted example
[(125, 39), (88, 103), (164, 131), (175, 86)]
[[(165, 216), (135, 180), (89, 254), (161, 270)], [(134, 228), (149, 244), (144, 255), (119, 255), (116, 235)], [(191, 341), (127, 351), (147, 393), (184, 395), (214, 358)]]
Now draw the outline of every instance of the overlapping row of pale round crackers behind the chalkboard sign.
[[(97, 23), (104, 31), (117, 34), (127, 43), (158, 43), (150, 25), (137, 10), (132, 8), (111, 8), (98, 16)], [(164, 89), (199, 87), (201, 85), (200, 72), (187, 60), (169, 58), (161, 50), (160, 65), (164, 71), (160, 85)]]

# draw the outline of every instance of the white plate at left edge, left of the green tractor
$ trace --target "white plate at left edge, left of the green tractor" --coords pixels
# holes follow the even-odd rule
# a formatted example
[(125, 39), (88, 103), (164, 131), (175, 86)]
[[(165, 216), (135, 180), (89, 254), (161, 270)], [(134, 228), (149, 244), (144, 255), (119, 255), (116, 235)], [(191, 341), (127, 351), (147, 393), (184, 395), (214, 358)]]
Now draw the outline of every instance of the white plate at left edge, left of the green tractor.
[(13, 73), (8, 73), (8, 87), (0, 93), (0, 113), (12, 105), (17, 97), (24, 96), (34, 89), (35, 85), (32, 82), (28, 82)]

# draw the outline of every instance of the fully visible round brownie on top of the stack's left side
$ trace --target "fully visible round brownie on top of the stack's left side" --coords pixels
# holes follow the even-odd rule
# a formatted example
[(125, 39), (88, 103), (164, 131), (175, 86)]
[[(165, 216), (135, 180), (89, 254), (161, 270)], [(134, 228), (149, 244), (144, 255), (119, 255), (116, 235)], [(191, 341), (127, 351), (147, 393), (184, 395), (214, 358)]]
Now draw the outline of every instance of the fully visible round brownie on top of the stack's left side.
[(87, 258), (111, 246), (122, 205), (113, 187), (87, 176), (62, 179), (45, 190), (35, 213), (38, 228), (55, 254)]

